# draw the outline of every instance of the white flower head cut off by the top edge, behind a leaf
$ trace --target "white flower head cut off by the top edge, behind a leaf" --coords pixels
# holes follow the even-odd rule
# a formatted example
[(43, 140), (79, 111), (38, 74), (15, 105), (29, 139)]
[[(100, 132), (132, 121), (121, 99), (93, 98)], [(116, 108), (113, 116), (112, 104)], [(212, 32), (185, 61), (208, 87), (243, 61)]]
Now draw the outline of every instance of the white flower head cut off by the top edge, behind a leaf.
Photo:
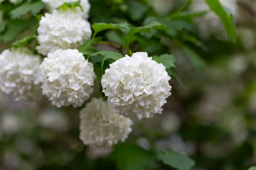
[[(63, 3), (72, 3), (72, 2), (76, 2), (77, 0), (42, 0), (42, 1), (47, 4), (50, 11), (54, 11), (54, 9), (58, 8)], [(89, 12), (90, 12), (89, 0), (81, 0), (80, 5), (83, 9), (84, 19), (89, 18)]]

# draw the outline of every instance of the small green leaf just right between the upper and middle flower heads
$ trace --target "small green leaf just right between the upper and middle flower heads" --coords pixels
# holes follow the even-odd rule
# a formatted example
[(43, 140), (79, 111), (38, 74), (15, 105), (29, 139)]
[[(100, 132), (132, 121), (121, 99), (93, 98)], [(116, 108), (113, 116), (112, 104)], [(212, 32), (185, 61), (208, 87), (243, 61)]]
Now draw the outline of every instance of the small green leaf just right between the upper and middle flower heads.
[(84, 42), (79, 48), (78, 50), (83, 53), (84, 55), (90, 55), (95, 53), (97, 50), (96, 48), (93, 46), (94, 44), (97, 44), (101, 41), (100, 37), (94, 38), (94, 39), (90, 39), (87, 40), (86, 42)]

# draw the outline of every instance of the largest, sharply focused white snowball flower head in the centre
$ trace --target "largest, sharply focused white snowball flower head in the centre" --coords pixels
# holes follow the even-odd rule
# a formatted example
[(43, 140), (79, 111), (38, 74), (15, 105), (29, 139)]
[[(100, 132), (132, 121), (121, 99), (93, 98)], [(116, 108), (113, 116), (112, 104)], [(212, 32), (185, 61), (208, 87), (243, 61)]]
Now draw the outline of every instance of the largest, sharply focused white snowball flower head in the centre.
[(116, 113), (152, 118), (162, 113), (171, 86), (166, 68), (145, 52), (137, 52), (110, 64), (102, 77), (103, 92)]

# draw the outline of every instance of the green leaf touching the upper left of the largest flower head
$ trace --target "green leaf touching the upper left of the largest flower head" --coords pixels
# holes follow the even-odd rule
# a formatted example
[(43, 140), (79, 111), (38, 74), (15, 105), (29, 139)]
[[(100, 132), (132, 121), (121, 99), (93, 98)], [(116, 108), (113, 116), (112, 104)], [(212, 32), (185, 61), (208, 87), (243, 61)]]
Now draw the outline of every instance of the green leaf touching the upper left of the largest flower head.
[(113, 51), (99, 51), (99, 52), (91, 54), (89, 57), (96, 57), (98, 55), (103, 56), (101, 68), (103, 68), (105, 60), (107, 60), (107, 59), (117, 60), (117, 59), (120, 59), (120, 58), (123, 57), (122, 54), (116, 53), (116, 52), (113, 52)]

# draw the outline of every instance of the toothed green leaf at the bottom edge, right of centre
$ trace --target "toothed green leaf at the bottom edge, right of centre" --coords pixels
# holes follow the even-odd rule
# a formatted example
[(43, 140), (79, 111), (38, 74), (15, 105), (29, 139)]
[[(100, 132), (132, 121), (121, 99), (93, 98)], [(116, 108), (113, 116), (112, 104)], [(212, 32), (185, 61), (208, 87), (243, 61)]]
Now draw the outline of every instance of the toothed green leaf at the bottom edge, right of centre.
[(159, 151), (157, 159), (163, 161), (164, 164), (177, 168), (178, 170), (190, 170), (195, 165), (195, 161), (190, 159), (188, 156), (173, 150), (170, 150), (168, 153)]

